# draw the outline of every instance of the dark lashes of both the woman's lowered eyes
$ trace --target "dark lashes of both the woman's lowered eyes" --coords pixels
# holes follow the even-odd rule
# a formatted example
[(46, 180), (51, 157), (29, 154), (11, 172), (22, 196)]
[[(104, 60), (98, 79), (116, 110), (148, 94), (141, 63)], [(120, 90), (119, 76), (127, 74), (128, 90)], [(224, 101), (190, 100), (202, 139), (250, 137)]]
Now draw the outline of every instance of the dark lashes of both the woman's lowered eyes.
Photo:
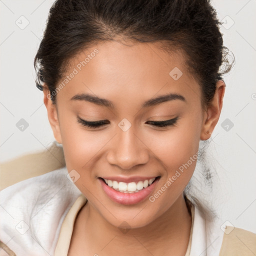
[[(148, 121), (150, 124), (157, 126), (157, 127), (167, 127), (167, 126), (173, 126), (178, 119), (178, 116), (175, 118), (165, 120), (165, 121)], [(79, 116), (77, 116), (77, 122), (81, 123), (83, 126), (87, 126), (88, 128), (96, 129), (98, 127), (103, 126), (104, 124), (107, 124), (107, 120), (99, 120), (99, 121), (86, 121)]]

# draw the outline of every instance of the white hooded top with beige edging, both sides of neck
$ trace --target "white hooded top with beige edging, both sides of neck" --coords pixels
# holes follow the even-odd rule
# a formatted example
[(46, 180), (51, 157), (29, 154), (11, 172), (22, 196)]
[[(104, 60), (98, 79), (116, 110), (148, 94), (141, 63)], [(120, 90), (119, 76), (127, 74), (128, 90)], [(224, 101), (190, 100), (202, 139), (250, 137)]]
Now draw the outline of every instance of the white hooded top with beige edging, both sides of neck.
[[(0, 191), (0, 241), (16, 256), (66, 255), (73, 221), (85, 202), (66, 167), (8, 186)], [(207, 222), (194, 205), (191, 213), (185, 256), (219, 255), (222, 223), (218, 219)]]

